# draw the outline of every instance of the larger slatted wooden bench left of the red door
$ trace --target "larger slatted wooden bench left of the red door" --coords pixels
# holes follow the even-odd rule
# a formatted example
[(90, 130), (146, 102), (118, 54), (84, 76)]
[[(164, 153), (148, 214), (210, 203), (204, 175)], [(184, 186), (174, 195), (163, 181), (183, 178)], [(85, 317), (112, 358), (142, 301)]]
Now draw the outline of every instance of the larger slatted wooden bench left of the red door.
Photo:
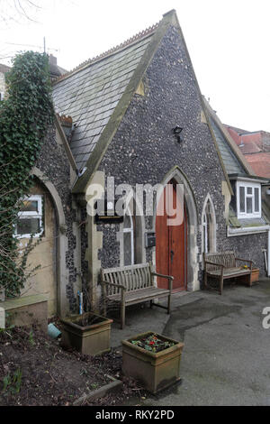
[[(150, 307), (155, 305), (170, 313), (174, 277), (153, 272), (150, 263), (108, 268), (101, 270), (101, 275), (104, 314), (108, 300), (117, 302), (121, 309), (121, 328), (125, 325), (126, 307), (136, 303), (150, 300)], [(155, 276), (167, 279), (168, 289), (158, 289), (154, 284)], [(156, 298), (167, 298), (167, 306), (154, 303)]]

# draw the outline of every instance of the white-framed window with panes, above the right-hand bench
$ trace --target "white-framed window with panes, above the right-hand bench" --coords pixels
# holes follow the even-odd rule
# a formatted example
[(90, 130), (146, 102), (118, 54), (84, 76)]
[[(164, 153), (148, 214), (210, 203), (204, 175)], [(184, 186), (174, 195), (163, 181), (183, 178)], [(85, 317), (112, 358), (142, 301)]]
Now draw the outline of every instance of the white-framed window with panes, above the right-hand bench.
[(237, 181), (238, 218), (261, 217), (260, 183)]

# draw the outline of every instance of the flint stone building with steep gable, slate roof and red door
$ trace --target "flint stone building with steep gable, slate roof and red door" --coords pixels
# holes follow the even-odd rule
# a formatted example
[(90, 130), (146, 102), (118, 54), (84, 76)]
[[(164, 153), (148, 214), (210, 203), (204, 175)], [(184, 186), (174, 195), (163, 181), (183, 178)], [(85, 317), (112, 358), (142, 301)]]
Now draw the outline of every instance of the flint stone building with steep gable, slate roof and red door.
[[(268, 180), (255, 175), (202, 97), (175, 11), (56, 78), (53, 97), (58, 115), (31, 193), (37, 235), (47, 243), (32, 253), (45, 266), (30, 290), (48, 293), (50, 315), (77, 311), (82, 289), (97, 309), (101, 268), (151, 262), (175, 277), (175, 291), (200, 290), (202, 253), (234, 250), (266, 274)], [(153, 216), (132, 216), (145, 205), (130, 198), (122, 222), (96, 221), (86, 203), (94, 183), (106, 197), (109, 176), (134, 189), (168, 184), (174, 201), (182, 184), (181, 224), (166, 226), (157, 215), (158, 195)], [(18, 231), (22, 245), (27, 231)]]

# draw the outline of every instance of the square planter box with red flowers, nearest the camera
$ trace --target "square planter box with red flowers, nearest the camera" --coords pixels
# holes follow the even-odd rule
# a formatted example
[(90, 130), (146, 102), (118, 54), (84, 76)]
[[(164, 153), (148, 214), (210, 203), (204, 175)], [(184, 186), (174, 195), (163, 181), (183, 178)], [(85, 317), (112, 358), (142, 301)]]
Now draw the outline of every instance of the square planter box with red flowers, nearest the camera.
[(175, 342), (175, 345), (155, 354), (130, 343), (150, 334), (153, 331), (122, 340), (122, 372), (143, 383), (148, 392), (156, 393), (180, 379), (184, 344), (156, 333), (161, 340)]

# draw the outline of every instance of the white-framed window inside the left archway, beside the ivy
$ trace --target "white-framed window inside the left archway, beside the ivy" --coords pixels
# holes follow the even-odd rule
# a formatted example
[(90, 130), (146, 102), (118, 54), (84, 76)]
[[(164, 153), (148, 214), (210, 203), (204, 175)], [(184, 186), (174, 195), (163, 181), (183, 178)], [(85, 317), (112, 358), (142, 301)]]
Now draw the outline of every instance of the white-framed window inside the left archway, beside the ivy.
[(32, 195), (23, 200), (23, 207), (18, 214), (15, 235), (18, 238), (39, 237), (42, 226), (42, 196)]

